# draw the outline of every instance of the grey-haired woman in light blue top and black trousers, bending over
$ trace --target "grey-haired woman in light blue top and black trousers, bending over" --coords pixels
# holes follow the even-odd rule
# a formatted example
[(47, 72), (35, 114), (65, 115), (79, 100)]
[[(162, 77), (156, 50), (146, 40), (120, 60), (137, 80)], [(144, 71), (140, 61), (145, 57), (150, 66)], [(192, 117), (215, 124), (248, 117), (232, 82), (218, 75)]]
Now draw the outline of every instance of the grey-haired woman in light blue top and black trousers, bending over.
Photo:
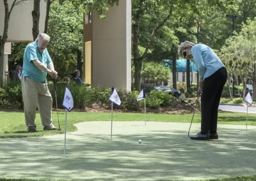
[(217, 120), (218, 106), (221, 92), (227, 81), (227, 69), (207, 45), (194, 44), (190, 41), (180, 43), (178, 49), (180, 57), (194, 59), (196, 69), (199, 72), (201, 98), (201, 131), (192, 140), (218, 139)]

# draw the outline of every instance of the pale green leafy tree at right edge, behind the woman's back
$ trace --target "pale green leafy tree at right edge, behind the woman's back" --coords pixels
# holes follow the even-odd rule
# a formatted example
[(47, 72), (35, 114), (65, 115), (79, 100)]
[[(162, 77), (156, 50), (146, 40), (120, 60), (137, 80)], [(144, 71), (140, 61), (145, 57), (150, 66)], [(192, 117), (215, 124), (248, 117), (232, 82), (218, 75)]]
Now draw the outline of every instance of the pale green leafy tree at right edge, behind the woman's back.
[[(256, 18), (242, 24), (240, 33), (228, 38), (227, 44), (221, 48), (221, 59), (225, 62), (229, 74), (240, 76), (244, 85), (252, 80), (253, 92), (256, 92)], [(253, 100), (256, 94), (253, 94)]]

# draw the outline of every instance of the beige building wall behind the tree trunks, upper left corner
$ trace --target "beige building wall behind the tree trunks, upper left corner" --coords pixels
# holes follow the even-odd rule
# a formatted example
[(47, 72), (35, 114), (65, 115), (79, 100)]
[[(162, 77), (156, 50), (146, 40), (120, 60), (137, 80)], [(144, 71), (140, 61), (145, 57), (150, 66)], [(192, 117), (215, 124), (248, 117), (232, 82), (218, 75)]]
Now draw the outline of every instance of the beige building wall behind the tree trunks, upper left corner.
[[(13, 0), (8, 0), (9, 7), (12, 6)], [(22, 4), (14, 6), (10, 15), (10, 22), (8, 28), (8, 39), (9, 42), (14, 41), (33, 41), (32, 36), (32, 15), (33, 11), (33, 0), (24, 1)], [(9, 8), (10, 9), (10, 8)], [(39, 31), (43, 33), (44, 22), (46, 14), (46, 3), (40, 1), (40, 24)], [(4, 3), (0, 1), (0, 36), (3, 35), (4, 29)]]

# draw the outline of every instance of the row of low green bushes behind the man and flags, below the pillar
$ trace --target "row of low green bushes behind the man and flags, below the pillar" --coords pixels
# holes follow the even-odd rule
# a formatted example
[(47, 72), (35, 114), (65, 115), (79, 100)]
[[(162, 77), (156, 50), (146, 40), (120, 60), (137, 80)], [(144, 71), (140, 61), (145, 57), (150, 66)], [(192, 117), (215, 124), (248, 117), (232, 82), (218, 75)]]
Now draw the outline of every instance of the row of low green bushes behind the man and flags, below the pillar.
[[(99, 87), (89, 88), (86, 85), (78, 85), (76, 82), (58, 82), (56, 83), (56, 94), (54, 89), (54, 83), (48, 82), (49, 91), (52, 94), (52, 107), (56, 108), (56, 97), (58, 108), (63, 108), (63, 98), (65, 95), (65, 87), (72, 92), (74, 99), (74, 108), (84, 109), (92, 105), (99, 105), (104, 108), (111, 108), (111, 101), (109, 96), (111, 95), (111, 88), (102, 89)], [(170, 106), (173, 101), (173, 96), (163, 92), (156, 91), (152, 85), (142, 85), (142, 88), (146, 88), (146, 105), (148, 108), (159, 108), (160, 106)], [(153, 91), (152, 91), (153, 90)], [(122, 89), (116, 89), (118, 96), (122, 101), (120, 106), (113, 104), (113, 108), (122, 110), (138, 111), (140, 108), (144, 108), (144, 101), (137, 101), (138, 91), (125, 91)], [(22, 91), (20, 82), (8, 82), (0, 88), (0, 108), (23, 108)]]

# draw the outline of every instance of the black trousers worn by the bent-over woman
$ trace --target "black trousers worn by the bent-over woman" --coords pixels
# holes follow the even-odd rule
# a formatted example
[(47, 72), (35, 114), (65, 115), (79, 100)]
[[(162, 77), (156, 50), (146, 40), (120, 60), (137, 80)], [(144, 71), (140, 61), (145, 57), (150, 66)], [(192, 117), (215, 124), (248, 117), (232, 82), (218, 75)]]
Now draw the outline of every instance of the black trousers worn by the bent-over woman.
[(227, 81), (227, 69), (220, 68), (211, 76), (205, 78), (201, 98), (201, 133), (216, 133), (218, 120), (218, 107), (221, 92)]

